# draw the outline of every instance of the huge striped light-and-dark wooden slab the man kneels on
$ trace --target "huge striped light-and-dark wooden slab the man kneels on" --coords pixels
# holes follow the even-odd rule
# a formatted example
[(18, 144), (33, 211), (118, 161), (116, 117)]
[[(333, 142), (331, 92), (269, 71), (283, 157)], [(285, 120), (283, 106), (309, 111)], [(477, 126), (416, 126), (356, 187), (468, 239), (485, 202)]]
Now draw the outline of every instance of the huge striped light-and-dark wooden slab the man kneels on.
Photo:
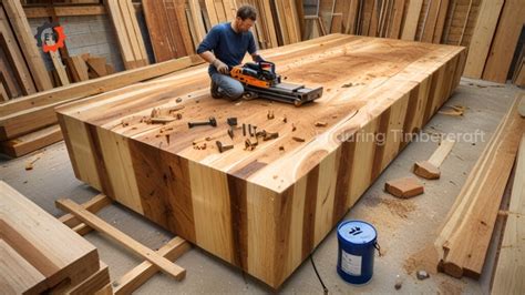
[[(331, 34), (264, 52), (284, 80), (325, 88), (300, 108), (214, 100), (200, 65), (68, 104), (58, 115), (76, 177), (278, 288), (406, 145), (402, 134), (420, 130), (449, 99), (465, 54)], [(154, 108), (179, 105), (181, 120), (143, 120)], [(217, 128), (188, 129), (212, 115)], [(230, 116), (279, 138), (246, 151), (239, 129), (233, 140), (227, 134)], [(219, 153), (217, 140), (235, 148)]]

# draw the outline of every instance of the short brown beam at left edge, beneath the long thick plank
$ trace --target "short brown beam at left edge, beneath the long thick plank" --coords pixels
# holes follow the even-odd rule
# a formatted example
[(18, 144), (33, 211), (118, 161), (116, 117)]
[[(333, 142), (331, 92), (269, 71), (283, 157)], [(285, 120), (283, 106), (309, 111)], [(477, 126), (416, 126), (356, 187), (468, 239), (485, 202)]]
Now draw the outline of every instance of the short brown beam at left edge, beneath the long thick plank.
[(0, 143), (0, 151), (9, 156), (19, 157), (62, 140), (58, 124)]

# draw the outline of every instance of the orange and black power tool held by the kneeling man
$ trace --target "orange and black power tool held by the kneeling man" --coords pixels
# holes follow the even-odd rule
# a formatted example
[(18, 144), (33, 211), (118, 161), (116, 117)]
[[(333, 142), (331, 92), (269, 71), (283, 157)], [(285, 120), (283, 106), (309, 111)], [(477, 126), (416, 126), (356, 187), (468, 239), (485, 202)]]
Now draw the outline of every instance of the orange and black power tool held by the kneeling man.
[(309, 89), (300, 84), (282, 83), (280, 75), (276, 73), (275, 63), (269, 61), (236, 65), (230, 69), (229, 74), (243, 83), (247, 99), (262, 98), (300, 106), (322, 95), (322, 87)]

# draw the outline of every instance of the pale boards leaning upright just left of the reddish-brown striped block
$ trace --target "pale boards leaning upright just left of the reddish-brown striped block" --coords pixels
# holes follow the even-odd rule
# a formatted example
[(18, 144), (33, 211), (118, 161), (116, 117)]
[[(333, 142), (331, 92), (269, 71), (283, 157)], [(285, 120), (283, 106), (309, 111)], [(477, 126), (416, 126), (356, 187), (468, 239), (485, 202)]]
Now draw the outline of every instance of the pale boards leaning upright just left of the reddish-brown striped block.
[(104, 2), (115, 27), (124, 68), (130, 70), (150, 64), (132, 1), (104, 0)]

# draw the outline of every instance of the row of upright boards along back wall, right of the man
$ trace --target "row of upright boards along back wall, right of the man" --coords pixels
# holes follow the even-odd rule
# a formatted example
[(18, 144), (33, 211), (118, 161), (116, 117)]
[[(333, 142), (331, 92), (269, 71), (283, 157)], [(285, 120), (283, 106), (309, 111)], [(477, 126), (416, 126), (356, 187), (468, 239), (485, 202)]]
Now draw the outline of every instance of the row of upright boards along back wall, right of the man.
[[(509, 70), (523, 62), (518, 59), (512, 67), (525, 24), (519, 0), (320, 0), (318, 17), (331, 33), (469, 47), (469, 78), (505, 83)], [(311, 24), (306, 30), (312, 30)]]

